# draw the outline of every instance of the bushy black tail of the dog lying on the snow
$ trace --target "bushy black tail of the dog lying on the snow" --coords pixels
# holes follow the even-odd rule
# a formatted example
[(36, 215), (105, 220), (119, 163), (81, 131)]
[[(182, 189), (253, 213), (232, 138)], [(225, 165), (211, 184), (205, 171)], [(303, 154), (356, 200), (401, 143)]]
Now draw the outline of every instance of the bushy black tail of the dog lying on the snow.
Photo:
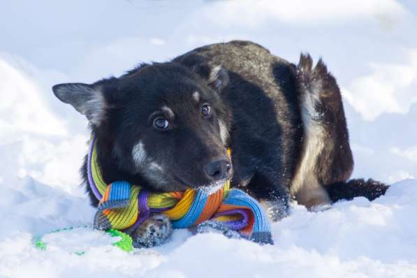
[(325, 186), (330, 199), (333, 202), (337, 200), (352, 200), (355, 197), (365, 197), (368, 200), (375, 200), (386, 193), (388, 185), (375, 180), (353, 179), (348, 182), (337, 182)]

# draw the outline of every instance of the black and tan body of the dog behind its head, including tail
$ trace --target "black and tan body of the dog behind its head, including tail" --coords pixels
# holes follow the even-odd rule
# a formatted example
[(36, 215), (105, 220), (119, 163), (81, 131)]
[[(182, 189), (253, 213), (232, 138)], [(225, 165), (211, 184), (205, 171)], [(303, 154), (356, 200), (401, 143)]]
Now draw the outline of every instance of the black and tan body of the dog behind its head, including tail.
[(279, 206), (289, 191), (307, 207), (386, 191), (373, 180), (346, 184), (353, 170), (349, 133), (339, 87), (323, 61), (313, 66), (305, 54), (294, 65), (247, 41), (207, 45), (175, 61), (191, 66), (201, 59), (221, 64), (231, 79), (223, 96), (233, 110), (237, 186)]

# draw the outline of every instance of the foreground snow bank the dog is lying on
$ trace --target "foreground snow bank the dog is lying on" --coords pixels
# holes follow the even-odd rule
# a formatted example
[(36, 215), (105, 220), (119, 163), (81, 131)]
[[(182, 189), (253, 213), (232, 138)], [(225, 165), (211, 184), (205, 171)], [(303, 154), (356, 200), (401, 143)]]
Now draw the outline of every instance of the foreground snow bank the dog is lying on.
[[(182, 230), (154, 249), (95, 246), (77, 256), (41, 251), (32, 240), (91, 224), (87, 198), (27, 178), (2, 189), (0, 277), (417, 277), (415, 200), (417, 180), (405, 180), (372, 203), (356, 198), (323, 212), (293, 204), (272, 225), (274, 246)], [(89, 236), (75, 235), (73, 244)]]

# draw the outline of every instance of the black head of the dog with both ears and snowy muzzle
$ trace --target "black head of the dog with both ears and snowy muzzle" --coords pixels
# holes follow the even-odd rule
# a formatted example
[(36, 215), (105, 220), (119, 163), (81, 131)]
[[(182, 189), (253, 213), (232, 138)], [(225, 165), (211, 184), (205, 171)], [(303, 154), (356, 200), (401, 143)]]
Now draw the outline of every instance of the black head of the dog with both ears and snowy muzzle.
[(221, 66), (170, 62), (52, 90), (87, 116), (120, 170), (140, 175), (153, 189), (177, 191), (231, 178), (228, 113), (221, 101), (227, 84)]

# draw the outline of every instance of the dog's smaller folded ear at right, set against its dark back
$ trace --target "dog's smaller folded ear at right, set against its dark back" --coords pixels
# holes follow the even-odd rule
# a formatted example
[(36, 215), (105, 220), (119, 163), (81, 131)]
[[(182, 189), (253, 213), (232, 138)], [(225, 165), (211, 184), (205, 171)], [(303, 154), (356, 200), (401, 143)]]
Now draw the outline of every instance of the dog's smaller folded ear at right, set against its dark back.
[(210, 86), (219, 91), (229, 83), (228, 72), (220, 65), (199, 64), (193, 67), (193, 72), (205, 78)]

